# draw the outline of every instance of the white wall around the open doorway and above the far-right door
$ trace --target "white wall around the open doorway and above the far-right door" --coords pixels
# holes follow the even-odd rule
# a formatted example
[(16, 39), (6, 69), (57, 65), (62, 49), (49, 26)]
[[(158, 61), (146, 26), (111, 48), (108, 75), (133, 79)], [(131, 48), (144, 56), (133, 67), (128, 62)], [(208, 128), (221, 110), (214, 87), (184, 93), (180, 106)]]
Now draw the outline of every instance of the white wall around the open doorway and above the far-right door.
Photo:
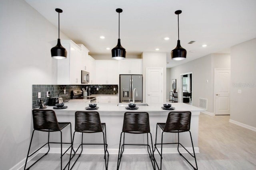
[[(176, 79), (176, 88), (180, 98), (180, 74), (192, 72), (192, 104), (199, 106), (199, 98), (208, 99), (208, 109), (214, 112), (214, 68), (230, 68), (229, 54), (210, 54), (170, 68), (170, 80)], [(208, 83), (206, 83), (208, 80)], [(168, 80), (167, 80), (168, 81)]]

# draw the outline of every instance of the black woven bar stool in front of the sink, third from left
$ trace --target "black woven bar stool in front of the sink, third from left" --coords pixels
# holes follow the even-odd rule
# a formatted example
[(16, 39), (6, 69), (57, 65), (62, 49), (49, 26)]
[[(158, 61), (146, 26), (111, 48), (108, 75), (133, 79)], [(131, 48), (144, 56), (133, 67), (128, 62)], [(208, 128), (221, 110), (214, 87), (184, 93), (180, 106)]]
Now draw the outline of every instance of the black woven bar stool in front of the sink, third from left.
[[(124, 135), (125, 133), (133, 133), (133, 134), (147, 133), (147, 144), (125, 144), (124, 137), (123, 137), (123, 144), (120, 150), (122, 133), (124, 133)], [(155, 170), (155, 163), (153, 163), (154, 152), (151, 152), (150, 145), (148, 144), (148, 133), (150, 133), (150, 126), (149, 126), (149, 116), (147, 112), (125, 112), (124, 113), (123, 130), (120, 135), (120, 143), (119, 143), (119, 150), (118, 150), (117, 170), (119, 169), (122, 154), (124, 152), (124, 145), (148, 146), (148, 154), (149, 154), (152, 166)], [(153, 151), (153, 142), (152, 142), (151, 133), (150, 133), (150, 138), (151, 138), (151, 145), (152, 145), (152, 151)]]

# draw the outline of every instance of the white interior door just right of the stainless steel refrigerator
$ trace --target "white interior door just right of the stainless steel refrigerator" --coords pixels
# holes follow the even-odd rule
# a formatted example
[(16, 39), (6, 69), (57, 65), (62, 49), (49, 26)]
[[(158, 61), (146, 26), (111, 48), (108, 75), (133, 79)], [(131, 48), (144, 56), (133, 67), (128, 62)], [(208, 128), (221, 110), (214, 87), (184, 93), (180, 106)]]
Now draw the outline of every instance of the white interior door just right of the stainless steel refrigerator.
[(163, 102), (163, 68), (146, 70), (146, 102)]

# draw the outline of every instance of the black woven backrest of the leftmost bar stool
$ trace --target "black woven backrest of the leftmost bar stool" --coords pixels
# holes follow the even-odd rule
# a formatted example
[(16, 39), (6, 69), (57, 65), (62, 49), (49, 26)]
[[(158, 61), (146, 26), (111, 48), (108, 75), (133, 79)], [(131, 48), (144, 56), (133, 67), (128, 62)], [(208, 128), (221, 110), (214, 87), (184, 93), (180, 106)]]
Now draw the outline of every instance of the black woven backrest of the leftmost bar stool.
[(55, 112), (53, 110), (33, 109), (34, 129), (38, 131), (60, 131)]

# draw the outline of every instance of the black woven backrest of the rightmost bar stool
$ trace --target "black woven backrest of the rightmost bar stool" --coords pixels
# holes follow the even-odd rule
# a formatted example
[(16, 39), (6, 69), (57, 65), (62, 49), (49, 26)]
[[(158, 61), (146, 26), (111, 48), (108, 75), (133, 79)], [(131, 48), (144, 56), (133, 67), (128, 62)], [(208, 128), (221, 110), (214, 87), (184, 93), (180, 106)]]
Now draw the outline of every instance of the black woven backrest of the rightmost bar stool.
[(164, 132), (186, 132), (190, 130), (190, 111), (171, 111), (168, 114)]

